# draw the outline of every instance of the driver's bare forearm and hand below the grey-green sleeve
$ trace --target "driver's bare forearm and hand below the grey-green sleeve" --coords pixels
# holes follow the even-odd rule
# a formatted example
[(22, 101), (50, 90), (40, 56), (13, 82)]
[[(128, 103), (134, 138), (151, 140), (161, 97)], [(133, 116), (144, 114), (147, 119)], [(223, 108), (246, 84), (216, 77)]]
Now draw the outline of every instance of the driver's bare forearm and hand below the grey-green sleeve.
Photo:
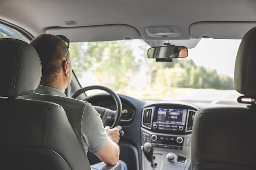
[(120, 149), (117, 145), (119, 143), (119, 131), (122, 129), (121, 126), (110, 129), (109, 126), (105, 127), (108, 134), (108, 139), (105, 147), (98, 153), (95, 153), (101, 161), (107, 165), (115, 165), (119, 160)]

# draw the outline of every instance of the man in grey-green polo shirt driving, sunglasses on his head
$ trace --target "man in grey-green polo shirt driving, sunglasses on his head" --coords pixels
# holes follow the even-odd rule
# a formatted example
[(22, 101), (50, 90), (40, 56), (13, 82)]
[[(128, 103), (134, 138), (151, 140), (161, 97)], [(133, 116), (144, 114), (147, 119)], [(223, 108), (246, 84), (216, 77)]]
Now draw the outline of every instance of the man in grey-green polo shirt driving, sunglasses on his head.
[[(67, 97), (64, 93), (72, 79), (69, 43), (63, 35), (42, 34), (31, 40), (30, 44), (36, 49), (41, 60), (42, 78), (37, 90), (22, 98), (61, 105), (85, 152), (90, 150), (107, 165), (115, 165), (119, 160), (121, 126), (104, 128), (100, 114), (90, 103)], [(119, 162), (122, 169), (127, 170), (126, 164)], [(101, 166), (95, 164), (91, 168), (100, 169)]]

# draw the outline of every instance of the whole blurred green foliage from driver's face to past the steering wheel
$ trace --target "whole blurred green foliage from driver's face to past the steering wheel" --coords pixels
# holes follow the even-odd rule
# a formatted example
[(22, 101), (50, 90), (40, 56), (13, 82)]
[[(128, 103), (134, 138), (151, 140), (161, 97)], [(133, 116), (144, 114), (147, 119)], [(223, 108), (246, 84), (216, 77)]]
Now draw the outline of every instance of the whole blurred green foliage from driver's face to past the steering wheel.
[(76, 43), (72, 46), (72, 63), (76, 74), (81, 76), (90, 69), (99, 84), (115, 91), (126, 88), (130, 77), (139, 71), (140, 60), (135, 60), (130, 46), (120, 42)]

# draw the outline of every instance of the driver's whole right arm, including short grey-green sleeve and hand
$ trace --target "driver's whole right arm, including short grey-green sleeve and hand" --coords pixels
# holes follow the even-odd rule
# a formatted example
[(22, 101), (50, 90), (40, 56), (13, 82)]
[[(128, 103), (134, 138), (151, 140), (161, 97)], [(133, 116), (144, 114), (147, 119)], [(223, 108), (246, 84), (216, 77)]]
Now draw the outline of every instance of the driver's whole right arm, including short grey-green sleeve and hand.
[(119, 160), (120, 149), (117, 143), (121, 126), (104, 128), (100, 114), (90, 103), (85, 104), (81, 121), (82, 143), (107, 165), (115, 165)]

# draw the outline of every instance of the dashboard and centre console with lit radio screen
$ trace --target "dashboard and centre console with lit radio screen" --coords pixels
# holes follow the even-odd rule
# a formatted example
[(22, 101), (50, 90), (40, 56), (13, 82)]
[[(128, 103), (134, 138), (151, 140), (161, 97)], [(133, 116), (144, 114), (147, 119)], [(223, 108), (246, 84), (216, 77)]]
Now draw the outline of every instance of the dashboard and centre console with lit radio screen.
[[(122, 148), (120, 159), (129, 164), (131, 169), (152, 170), (141, 149), (150, 143), (157, 165), (154, 170), (188, 170), (191, 163), (193, 118), (204, 104), (199, 108), (191, 102), (145, 102), (126, 95), (119, 97), (123, 110), (127, 110), (120, 121), (125, 132), (119, 142)], [(86, 100), (95, 106), (116, 109), (114, 100), (108, 94), (95, 95)]]

